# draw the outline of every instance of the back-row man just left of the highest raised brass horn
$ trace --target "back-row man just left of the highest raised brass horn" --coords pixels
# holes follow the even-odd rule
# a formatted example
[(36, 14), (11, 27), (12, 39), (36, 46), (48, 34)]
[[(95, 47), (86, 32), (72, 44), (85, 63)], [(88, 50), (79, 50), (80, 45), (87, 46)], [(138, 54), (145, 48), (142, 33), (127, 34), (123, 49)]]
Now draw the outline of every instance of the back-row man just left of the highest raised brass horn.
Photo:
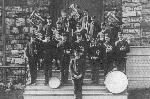
[(58, 18), (57, 22), (61, 23), (61, 27), (64, 31), (67, 29), (67, 24), (68, 24), (68, 18), (67, 18), (67, 12), (65, 9), (61, 10), (61, 17)]

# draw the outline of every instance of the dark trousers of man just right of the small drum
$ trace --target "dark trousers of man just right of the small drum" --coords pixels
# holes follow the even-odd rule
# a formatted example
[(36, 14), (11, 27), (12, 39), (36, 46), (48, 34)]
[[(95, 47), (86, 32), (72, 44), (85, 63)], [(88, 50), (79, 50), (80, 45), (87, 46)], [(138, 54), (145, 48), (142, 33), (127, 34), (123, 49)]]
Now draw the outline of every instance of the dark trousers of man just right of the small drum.
[(68, 81), (68, 73), (69, 73), (69, 63), (70, 63), (70, 56), (64, 55), (60, 59), (60, 78), (61, 83), (67, 83)]

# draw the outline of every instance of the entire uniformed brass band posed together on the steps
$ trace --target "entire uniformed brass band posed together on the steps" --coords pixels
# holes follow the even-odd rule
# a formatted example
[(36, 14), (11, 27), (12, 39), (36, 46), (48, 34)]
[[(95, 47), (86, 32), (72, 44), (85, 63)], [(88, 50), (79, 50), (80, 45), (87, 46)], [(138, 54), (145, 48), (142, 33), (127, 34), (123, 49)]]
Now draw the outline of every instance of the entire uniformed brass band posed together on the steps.
[[(99, 84), (99, 70), (106, 76), (114, 68), (125, 72), (126, 54), (130, 51), (129, 42), (124, 39), (120, 25), (115, 16), (116, 9), (110, 14), (116, 21), (99, 23), (95, 15), (89, 16), (88, 9), (71, 5), (72, 13), (67, 15), (61, 10), (61, 17), (52, 24), (52, 17), (33, 25), (34, 33), (27, 44), (31, 84), (36, 83), (37, 70), (44, 70), (45, 85), (52, 76), (52, 65), (60, 70), (61, 85), (68, 83), (72, 77), (76, 99), (82, 98), (82, 85), (86, 60), (89, 60), (91, 81)], [(110, 16), (108, 15), (108, 16)], [(55, 61), (55, 62), (54, 62)]]

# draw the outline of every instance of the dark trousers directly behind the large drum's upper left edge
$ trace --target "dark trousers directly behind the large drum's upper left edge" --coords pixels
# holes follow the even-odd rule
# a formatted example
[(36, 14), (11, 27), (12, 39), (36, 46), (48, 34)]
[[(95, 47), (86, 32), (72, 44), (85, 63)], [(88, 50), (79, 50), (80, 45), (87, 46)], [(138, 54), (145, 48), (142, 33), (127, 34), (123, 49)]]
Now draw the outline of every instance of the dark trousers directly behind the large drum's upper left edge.
[(104, 76), (106, 76), (113, 69), (113, 61), (106, 61), (104, 63)]

